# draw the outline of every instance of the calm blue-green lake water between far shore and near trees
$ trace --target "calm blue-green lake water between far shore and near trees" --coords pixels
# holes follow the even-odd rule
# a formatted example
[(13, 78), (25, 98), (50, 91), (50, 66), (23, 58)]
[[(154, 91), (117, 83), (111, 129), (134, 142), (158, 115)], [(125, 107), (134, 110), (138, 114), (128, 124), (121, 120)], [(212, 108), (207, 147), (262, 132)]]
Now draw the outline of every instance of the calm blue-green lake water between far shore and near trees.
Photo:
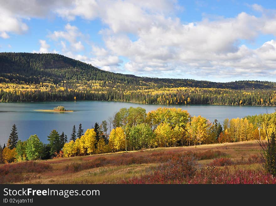
[[(74, 112), (39, 112), (35, 109), (53, 109), (62, 105), (66, 110)], [(33, 102), (33, 103), (0, 103), (0, 144), (7, 144), (8, 136), (13, 124), (16, 124), (19, 139), (27, 140), (30, 135), (37, 134), (40, 140), (47, 143), (47, 136), (55, 129), (69, 137), (73, 125), (76, 130), (79, 124), (86, 131), (95, 122), (101, 124), (103, 120), (108, 122), (108, 117), (113, 116), (119, 109), (126, 107), (142, 107), (146, 112), (158, 107), (182, 108), (192, 116), (201, 115), (211, 122), (217, 119), (221, 124), (225, 118), (237, 118), (261, 113), (273, 113), (276, 107), (268, 106), (223, 106), (223, 105), (158, 105), (138, 104), (109, 101), (61, 101), (61, 102)]]

